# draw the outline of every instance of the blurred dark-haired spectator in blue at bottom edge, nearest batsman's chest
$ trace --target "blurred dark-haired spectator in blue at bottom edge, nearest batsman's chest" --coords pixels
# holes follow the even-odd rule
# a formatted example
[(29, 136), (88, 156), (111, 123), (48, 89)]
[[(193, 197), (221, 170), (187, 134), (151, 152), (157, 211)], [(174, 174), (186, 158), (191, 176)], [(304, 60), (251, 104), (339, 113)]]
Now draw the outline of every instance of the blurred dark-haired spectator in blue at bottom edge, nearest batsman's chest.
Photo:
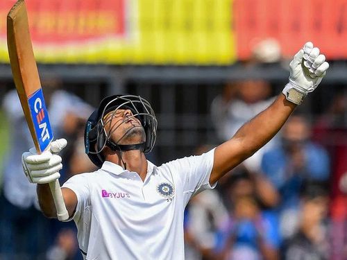
[(278, 220), (271, 208), (264, 206), (266, 199), (257, 192), (254, 176), (240, 167), (223, 188), (229, 216), (219, 225), (214, 259), (279, 259)]

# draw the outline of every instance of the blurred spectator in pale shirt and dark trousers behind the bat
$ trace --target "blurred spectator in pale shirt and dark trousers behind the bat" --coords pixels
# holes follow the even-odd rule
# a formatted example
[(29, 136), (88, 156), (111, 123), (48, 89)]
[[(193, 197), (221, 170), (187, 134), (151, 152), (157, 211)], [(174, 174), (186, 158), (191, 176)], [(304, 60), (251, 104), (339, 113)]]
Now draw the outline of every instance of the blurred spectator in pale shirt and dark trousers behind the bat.
[[(81, 156), (84, 147), (76, 146), (83, 138), (85, 119), (92, 112), (92, 107), (74, 94), (60, 89), (58, 78), (43, 80), (42, 85), (53, 134), (55, 138), (67, 138), (70, 143), (70, 149), (62, 155), (68, 162), (60, 172), (62, 181), (65, 181), (71, 174), (89, 171), (88, 168), (92, 167), (89, 160), (83, 159), (87, 156)], [(15, 89), (3, 97), (2, 107), (9, 121), (10, 150), (3, 162), (3, 193), (0, 197), (1, 260), (35, 259), (37, 256), (44, 259), (47, 248), (60, 232), (61, 224), (45, 218), (39, 211), (36, 185), (28, 182), (19, 163), (22, 151), (33, 147), (33, 141)], [(76, 165), (83, 168), (76, 171)], [(74, 228), (74, 225), (70, 227)]]

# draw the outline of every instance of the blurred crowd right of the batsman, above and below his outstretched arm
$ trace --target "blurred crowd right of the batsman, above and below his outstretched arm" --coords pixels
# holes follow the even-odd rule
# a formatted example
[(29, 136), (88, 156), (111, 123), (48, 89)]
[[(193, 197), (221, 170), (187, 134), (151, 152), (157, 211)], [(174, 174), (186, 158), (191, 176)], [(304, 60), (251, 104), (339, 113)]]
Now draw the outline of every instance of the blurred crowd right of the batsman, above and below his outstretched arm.
[[(273, 101), (269, 87), (264, 80), (239, 80), (214, 98), (220, 141)], [(336, 93), (314, 121), (296, 112), (217, 189), (189, 202), (187, 259), (347, 259), (346, 98)]]

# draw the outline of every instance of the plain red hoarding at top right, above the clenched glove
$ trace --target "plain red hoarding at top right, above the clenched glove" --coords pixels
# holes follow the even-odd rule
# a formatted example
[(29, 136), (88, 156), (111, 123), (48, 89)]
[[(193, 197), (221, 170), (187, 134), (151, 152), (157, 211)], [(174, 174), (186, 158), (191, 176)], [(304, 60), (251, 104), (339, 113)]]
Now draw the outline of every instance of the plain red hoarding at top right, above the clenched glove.
[(235, 0), (237, 57), (249, 58), (260, 40), (278, 40), (285, 56), (312, 41), (330, 59), (347, 58), (346, 0)]

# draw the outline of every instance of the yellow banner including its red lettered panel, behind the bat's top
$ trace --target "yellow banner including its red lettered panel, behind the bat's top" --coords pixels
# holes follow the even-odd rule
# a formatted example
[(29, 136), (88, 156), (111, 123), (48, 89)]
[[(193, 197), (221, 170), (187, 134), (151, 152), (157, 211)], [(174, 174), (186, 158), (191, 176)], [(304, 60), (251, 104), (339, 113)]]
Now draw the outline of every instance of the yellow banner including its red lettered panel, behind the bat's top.
[[(8, 62), (0, 4), (0, 62)], [(43, 63), (230, 64), (232, 0), (27, 0)]]

